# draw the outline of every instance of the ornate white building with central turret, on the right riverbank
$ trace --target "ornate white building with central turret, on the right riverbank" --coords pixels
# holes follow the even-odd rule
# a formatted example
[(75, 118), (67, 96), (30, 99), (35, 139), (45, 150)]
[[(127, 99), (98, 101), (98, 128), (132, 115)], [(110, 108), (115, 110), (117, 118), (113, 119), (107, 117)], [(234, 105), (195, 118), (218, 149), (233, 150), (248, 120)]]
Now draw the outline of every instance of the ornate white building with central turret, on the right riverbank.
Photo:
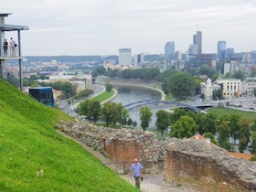
[(220, 89), (220, 85), (213, 84), (210, 79), (207, 82), (201, 82), (201, 93), (204, 95), (204, 100), (211, 101), (213, 100), (213, 91)]

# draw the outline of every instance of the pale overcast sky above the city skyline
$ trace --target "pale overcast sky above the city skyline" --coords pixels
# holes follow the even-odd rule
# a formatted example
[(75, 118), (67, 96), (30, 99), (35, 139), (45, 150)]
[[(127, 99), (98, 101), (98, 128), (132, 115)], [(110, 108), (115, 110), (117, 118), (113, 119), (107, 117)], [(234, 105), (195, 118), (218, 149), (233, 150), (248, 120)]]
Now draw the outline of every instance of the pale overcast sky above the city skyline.
[(185, 52), (197, 30), (203, 53), (217, 52), (219, 40), (235, 52), (256, 49), (256, 0), (6, 0), (0, 13), (29, 27), (24, 56), (159, 54), (167, 41)]

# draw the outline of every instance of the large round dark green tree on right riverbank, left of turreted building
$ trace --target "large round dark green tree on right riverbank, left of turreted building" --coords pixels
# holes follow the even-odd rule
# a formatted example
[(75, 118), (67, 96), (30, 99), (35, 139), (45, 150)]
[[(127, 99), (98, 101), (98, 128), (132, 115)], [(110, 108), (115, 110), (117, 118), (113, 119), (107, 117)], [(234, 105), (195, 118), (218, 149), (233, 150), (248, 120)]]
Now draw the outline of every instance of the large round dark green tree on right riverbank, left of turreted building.
[(196, 89), (194, 78), (187, 72), (177, 72), (168, 80), (168, 90), (178, 100), (185, 100)]

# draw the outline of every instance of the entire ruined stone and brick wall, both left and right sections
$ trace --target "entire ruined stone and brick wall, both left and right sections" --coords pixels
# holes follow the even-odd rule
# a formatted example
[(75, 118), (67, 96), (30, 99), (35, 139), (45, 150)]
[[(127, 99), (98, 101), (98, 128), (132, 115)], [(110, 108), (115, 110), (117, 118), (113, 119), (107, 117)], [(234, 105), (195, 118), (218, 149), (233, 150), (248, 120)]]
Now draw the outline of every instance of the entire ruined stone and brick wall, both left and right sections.
[(197, 191), (256, 191), (256, 162), (234, 159), (204, 141), (171, 138), (159, 142), (154, 133), (86, 122), (63, 123), (59, 130), (94, 147), (113, 162), (127, 162), (124, 172), (136, 157), (145, 173), (164, 169), (166, 182)]

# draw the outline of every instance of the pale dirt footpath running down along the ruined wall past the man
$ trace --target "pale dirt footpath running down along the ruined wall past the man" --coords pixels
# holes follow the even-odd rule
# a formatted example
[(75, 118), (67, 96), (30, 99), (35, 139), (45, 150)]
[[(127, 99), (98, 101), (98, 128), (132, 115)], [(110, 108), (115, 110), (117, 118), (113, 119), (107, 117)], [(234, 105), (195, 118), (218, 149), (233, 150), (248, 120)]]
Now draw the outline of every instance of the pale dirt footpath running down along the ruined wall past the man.
[[(95, 151), (93, 147), (83, 144), (80, 141), (70, 137), (65, 133), (62, 133), (62, 132), (58, 132), (58, 133), (82, 145), (88, 152), (91, 153), (91, 155), (94, 155), (96, 158), (98, 158), (101, 161), (102, 165), (112, 163), (111, 159), (105, 157), (100, 152)], [(113, 164), (106, 165), (106, 166), (111, 168), (114, 172), (118, 172), (118, 170), (122, 169), (122, 167), (118, 165), (113, 165)], [(133, 177), (131, 177), (130, 174), (120, 175), (120, 176), (126, 181), (128, 181), (131, 185), (134, 185)], [(155, 174), (155, 175), (144, 174), (144, 181), (141, 182), (141, 190), (143, 192), (188, 192), (188, 191), (196, 192), (193, 189), (190, 189), (187, 187), (176, 187), (176, 185), (166, 184), (164, 180), (164, 175), (162, 173)]]

